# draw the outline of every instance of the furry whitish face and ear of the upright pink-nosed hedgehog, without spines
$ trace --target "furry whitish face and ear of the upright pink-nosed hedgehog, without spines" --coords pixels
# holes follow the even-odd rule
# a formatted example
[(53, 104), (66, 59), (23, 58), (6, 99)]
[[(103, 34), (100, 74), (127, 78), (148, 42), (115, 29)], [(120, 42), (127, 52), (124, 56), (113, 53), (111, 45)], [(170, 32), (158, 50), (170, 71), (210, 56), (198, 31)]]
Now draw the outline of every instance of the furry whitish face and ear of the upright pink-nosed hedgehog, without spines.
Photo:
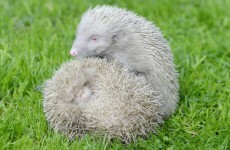
[(123, 31), (111, 29), (102, 24), (81, 22), (78, 26), (76, 39), (70, 50), (72, 56), (101, 56), (123, 36)]

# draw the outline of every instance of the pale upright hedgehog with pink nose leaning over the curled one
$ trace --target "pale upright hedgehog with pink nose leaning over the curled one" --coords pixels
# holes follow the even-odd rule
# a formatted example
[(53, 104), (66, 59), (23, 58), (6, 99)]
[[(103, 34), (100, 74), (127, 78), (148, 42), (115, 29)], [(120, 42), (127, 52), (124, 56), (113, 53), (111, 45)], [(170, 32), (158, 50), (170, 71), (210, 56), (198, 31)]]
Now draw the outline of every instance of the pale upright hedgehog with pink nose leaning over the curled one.
[(174, 113), (179, 85), (173, 55), (161, 31), (145, 18), (113, 6), (89, 8), (77, 27), (70, 54), (128, 66), (161, 93), (163, 117)]

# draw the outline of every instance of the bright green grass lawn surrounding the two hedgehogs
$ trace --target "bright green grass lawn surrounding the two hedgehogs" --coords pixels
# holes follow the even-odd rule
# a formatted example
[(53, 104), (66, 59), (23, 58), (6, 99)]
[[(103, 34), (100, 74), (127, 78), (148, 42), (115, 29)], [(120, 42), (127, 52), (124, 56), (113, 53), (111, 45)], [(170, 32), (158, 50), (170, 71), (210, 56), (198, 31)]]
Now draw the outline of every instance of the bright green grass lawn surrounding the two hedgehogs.
[[(97, 4), (153, 21), (180, 73), (175, 114), (130, 145), (92, 136), (69, 144), (48, 127), (36, 90), (71, 59), (76, 24)], [(2, 0), (0, 8), (0, 149), (230, 149), (229, 0)]]

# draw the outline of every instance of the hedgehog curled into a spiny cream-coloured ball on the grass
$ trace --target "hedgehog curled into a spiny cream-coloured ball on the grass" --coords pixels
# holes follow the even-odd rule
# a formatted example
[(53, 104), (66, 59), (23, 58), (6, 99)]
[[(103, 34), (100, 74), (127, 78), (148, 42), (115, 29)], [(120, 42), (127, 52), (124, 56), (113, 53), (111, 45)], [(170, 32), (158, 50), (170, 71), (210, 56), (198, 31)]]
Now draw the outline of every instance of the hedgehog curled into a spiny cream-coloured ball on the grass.
[(124, 143), (148, 137), (163, 122), (161, 105), (143, 75), (96, 57), (63, 64), (43, 89), (46, 119), (70, 141), (85, 134)]

